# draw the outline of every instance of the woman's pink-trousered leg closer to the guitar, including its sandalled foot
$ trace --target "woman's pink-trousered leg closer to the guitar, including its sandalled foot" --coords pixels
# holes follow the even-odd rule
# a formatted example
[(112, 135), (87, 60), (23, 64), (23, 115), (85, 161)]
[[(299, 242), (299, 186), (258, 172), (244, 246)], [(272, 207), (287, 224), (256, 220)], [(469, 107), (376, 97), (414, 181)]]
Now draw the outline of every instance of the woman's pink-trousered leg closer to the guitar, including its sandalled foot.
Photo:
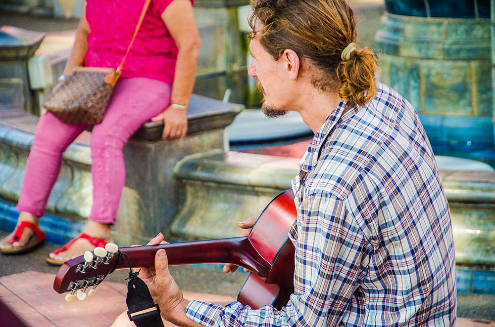
[[(133, 78), (115, 85), (103, 121), (91, 135), (91, 174), (93, 206), (84, 233), (103, 241), (110, 240), (110, 227), (115, 224), (120, 197), (125, 183), (122, 149), (136, 130), (170, 104), (170, 85), (164, 82)], [(74, 242), (57, 260), (81, 255), (94, 248), (87, 240)]]

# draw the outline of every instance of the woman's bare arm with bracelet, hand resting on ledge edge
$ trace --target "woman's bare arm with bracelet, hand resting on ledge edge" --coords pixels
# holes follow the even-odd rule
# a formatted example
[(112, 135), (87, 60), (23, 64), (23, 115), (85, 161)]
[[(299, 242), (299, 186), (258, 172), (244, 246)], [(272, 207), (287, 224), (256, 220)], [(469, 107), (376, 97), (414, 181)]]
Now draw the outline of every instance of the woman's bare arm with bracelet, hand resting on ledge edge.
[(187, 132), (187, 107), (196, 78), (199, 32), (191, 0), (173, 0), (163, 11), (161, 18), (177, 44), (178, 53), (171, 105), (152, 121), (164, 120), (162, 139), (182, 140)]

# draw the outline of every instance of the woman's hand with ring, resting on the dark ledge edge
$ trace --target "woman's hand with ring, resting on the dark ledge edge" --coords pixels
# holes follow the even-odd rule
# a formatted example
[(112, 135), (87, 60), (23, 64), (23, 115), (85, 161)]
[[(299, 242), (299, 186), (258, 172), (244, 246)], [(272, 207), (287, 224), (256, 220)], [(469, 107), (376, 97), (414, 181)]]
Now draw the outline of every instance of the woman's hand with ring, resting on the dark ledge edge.
[(151, 118), (151, 122), (163, 120), (165, 126), (161, 135), (162, 140), (183, 140), (187, 132), (187, 112), (185, 109), (169, 105), (164, 112)]

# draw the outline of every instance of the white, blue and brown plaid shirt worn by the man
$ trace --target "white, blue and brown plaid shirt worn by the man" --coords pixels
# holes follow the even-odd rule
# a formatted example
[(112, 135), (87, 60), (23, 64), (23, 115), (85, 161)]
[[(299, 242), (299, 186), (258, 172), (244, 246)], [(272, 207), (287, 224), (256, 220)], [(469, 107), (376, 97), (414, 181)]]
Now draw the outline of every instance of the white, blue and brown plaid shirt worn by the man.
[(188, 317), (211, 327), (454, 326), (450, 215), (419, 118), (383, 84), (371, 103), (345, 106), (318, 130), (292, 182), (287, 306), (192, 301)]

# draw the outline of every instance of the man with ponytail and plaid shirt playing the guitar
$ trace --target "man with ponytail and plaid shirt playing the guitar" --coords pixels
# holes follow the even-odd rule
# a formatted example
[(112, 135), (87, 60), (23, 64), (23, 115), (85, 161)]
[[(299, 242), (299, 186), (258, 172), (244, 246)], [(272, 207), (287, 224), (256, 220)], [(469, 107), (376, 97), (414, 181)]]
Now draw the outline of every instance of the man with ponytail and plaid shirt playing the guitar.
[[(261, 110), (297, 111), (315, 133), (292, 181), (294, 293), (281, 309), (190, 302), (160, 249), (140, 277), (162, 318), (208, 327), (454, 326), (452, 228), (435, 157), (414, 108), (375, 80), (374, 53), (354, 43), (352, 9), (345, 0), (251, 6), (248, 72)], [(115, 326), (133, 323), (122, 315)]]

